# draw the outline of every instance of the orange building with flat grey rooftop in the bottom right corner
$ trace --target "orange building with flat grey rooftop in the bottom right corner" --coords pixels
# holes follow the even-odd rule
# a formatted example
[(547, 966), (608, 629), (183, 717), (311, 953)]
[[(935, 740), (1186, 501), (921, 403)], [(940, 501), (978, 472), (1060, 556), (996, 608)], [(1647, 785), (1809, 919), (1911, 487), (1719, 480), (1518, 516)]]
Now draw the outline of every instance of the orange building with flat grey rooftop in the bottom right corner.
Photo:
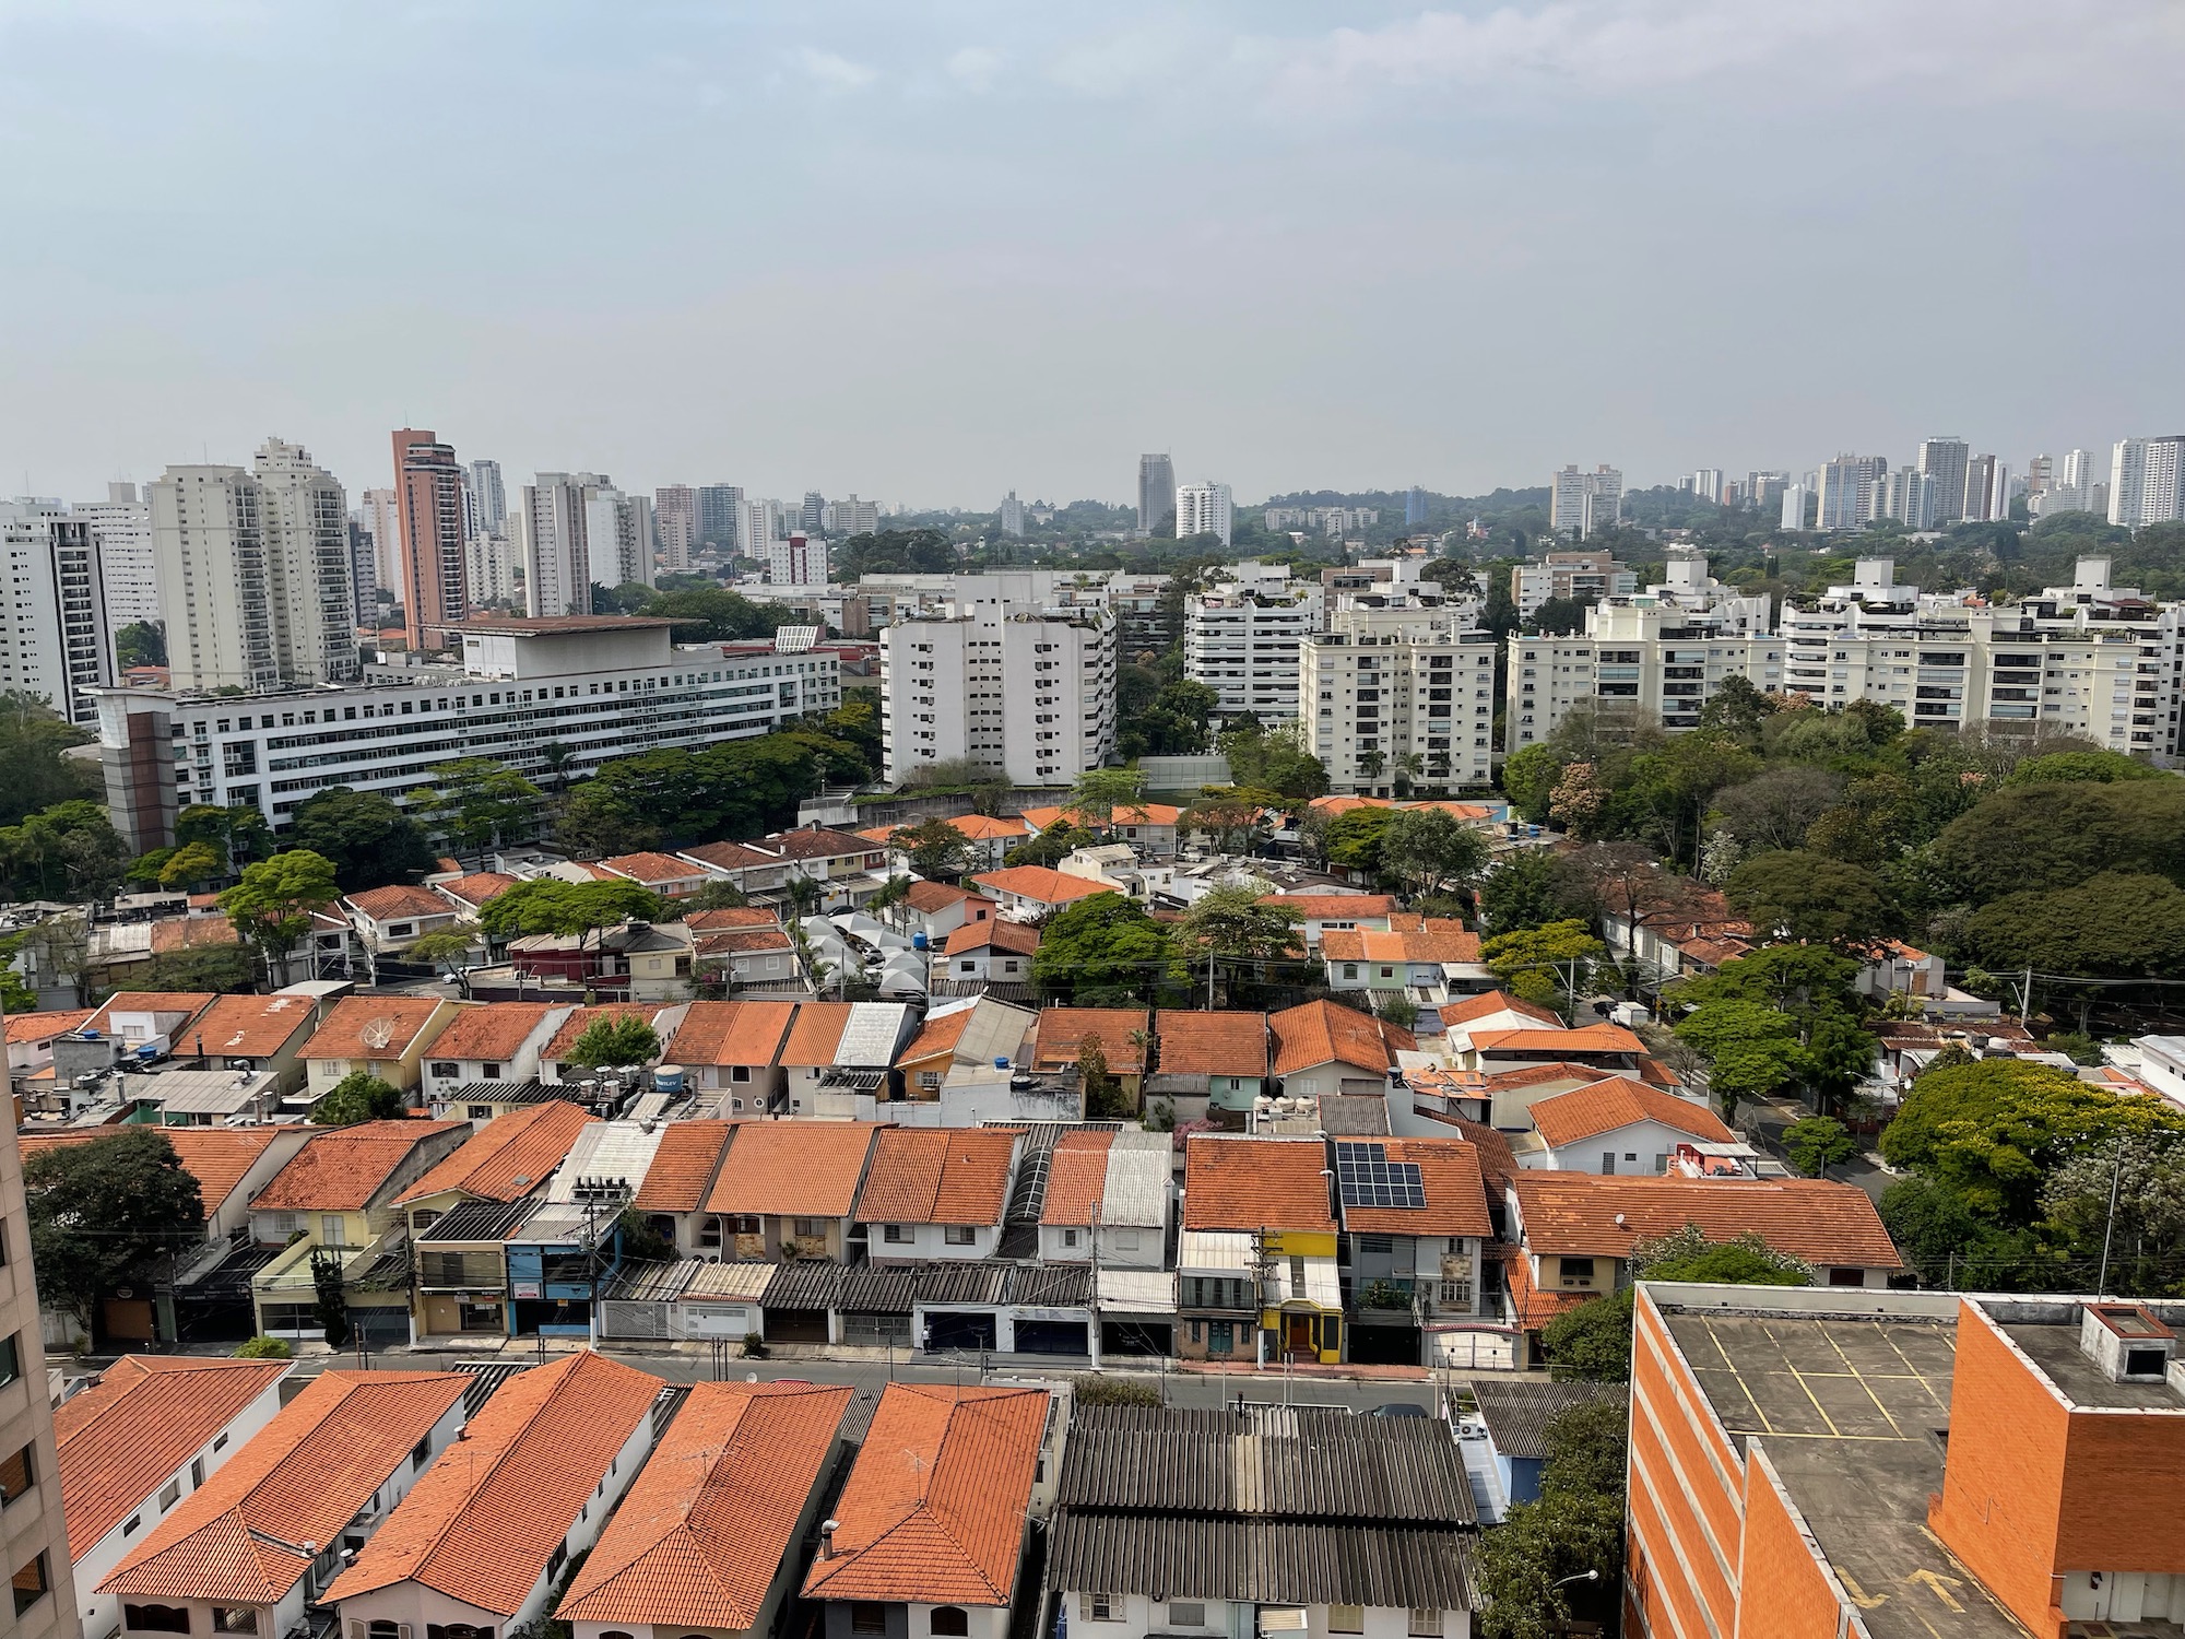
[(1641, 1285), (1623, 1632), (2185, 1630), (2185, 1302)]

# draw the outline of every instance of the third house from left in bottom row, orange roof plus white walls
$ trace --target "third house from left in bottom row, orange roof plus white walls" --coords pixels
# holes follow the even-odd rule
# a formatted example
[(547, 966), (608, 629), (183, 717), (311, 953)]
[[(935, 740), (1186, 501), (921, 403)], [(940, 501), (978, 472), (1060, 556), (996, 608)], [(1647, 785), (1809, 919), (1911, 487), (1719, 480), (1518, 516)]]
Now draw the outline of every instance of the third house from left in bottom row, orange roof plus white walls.
[(660, 1379), (579, 1353), (516, 1372), (326, 1591), (345, 1632), (507, 1632), (551, 1613), (653, 1447)]

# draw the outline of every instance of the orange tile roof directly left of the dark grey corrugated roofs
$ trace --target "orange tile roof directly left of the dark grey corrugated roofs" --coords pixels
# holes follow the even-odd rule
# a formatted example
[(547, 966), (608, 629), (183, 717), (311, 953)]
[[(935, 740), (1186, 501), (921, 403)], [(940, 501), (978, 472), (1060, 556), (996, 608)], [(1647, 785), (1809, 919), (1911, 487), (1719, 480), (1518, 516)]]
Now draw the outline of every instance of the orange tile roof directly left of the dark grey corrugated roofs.
[(804, 1597), (1009, 1604), (1044, 1434), (1047, 1390), (889, 1383)]

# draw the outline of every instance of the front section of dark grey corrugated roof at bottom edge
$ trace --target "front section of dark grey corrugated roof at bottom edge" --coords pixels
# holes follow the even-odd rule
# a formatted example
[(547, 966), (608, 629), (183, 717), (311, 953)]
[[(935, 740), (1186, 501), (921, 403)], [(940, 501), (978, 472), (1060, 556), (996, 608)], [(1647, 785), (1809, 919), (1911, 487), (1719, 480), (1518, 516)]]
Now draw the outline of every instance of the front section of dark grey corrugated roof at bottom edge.
[(1245, 1604), (1379, 1604), (1471, 1611), (1466, 1532), (1178, 1519), (1064, 1508), (1047, 1580), (1066, 1593), (1147, 1593)]

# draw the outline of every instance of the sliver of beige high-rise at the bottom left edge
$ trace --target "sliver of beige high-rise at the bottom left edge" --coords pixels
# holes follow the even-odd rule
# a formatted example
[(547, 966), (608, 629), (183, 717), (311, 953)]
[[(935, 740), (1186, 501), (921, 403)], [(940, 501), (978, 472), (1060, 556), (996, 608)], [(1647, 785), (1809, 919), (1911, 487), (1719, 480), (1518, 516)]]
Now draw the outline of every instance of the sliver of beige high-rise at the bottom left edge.
[(11, 1639), (81, 1639), (15, 1123), (0, 1123), (0, 1569)]

